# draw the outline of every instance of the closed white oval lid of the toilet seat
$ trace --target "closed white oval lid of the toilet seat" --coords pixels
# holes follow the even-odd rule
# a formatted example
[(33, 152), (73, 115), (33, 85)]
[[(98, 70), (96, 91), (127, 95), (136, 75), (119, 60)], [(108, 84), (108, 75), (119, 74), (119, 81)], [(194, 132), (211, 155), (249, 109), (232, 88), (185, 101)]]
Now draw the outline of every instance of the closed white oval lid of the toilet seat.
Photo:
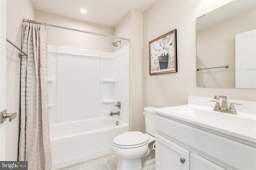
[(140, 144), (146, 145), (147, 142), (148, 142), (148, 136), (144, 135), (139, 131), (122, 133), (116, 136), (113, 140), (114, 144), (122, 145), (122, 146), (132, 146), (132, 145), (140, 145)]

